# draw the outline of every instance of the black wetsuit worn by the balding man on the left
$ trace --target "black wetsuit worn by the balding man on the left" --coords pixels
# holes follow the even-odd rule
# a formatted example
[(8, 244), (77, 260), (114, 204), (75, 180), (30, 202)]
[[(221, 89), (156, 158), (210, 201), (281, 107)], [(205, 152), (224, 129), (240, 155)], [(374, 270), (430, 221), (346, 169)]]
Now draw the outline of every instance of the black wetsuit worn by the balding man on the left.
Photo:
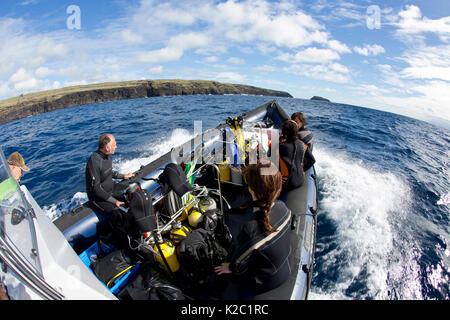
[(111, 213), (117, 209), (116, 200), (123, 201), (121, 194), (126, 186), (113, 181), (123, 177), (123, 174), (112, 169), (112, 159), (109, 155), (100, 150), (92, 153), (86, 165), (86, 192), (89, 201), (102, 213)]

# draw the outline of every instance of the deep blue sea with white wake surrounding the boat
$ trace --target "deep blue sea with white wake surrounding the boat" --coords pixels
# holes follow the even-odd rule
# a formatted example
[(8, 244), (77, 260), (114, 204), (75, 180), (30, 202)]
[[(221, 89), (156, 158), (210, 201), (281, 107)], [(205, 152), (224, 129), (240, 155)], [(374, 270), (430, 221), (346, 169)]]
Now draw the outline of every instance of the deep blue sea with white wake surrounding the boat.
[(450, 131), (363, 107), (262, 96), (114, 101), (0, 126), (8, 156), (52, 220), (87, 200), (84, 170), (100, 134), (115, 135), (113, 166), (139, 169), (203, 130), (276, 99), (314, 134), (319, 215), (309, 299), (446, 299), (450, 267)]

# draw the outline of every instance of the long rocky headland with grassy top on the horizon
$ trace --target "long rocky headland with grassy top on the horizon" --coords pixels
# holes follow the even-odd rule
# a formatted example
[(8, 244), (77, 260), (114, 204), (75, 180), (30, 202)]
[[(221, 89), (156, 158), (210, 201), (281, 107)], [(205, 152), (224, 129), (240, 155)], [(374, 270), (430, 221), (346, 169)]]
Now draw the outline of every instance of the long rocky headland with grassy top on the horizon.
[(52, 110), (113, 100), (194, 94), (289, 97), (284, 91), (207, 80), (106, 82), (28, 93), (0, 101), (0, 124)]

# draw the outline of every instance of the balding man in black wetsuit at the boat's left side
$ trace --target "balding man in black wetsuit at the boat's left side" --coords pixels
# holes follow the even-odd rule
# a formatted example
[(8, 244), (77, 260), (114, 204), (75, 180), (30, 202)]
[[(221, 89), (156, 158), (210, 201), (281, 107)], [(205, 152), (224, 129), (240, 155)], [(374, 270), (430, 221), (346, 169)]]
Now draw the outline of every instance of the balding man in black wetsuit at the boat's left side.
[(92, 153), (86, 165), (86, 192), (92, 205), (99, 209), (100, 224), (103, 225), (114, 211), (124, 205), (123, 192), (126, 186), (114, 183), (113, 179), (130, 179), (134, 173), (125, 175), (112, 169), (112, 158), (117, 148), (112, 134), (102, 134), (98, 149)]

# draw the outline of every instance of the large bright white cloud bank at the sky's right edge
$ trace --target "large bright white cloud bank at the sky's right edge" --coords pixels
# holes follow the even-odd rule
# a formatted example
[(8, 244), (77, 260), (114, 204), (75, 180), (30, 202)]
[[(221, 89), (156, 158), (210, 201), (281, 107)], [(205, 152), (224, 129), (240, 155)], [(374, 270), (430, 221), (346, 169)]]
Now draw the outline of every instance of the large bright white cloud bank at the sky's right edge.
[[(436, 122), (450, 122), (450, 17), (428, 19), (414, 5), (406, 6), (397, 18), (395, 39), (407, 44), (407, 49), (395, 57), (401, 64), (379, 64), (379, 85), (361, 85), (356, 91), (367, 106)], [(430, 45), (429, 36), (435, 35)], [(360, 54), (370, 54), (365, 48), (354, 48)], [(367, 48), (368, 49), (368, 48)], [(441, 122), (443, 123), (443, 122)]]

